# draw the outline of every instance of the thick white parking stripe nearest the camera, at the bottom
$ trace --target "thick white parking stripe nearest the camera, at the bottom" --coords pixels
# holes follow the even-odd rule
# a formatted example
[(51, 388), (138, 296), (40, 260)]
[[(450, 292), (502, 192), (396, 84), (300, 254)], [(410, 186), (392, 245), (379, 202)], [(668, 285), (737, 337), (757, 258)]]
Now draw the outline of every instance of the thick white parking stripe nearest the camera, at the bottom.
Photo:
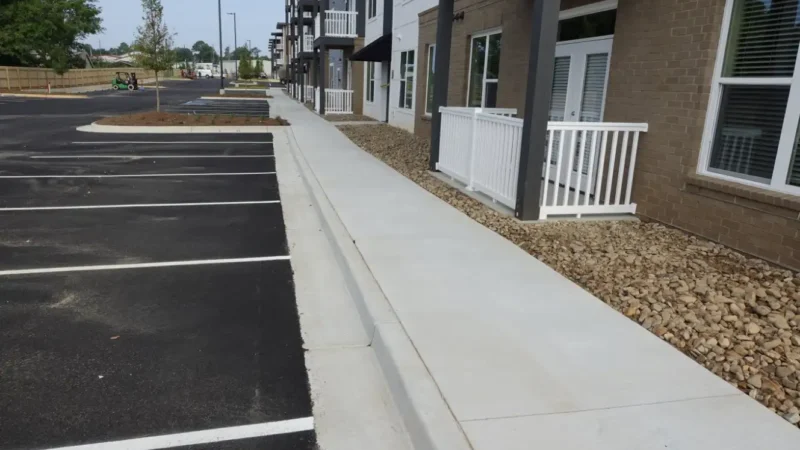
[(314, 429), (314, 418), (282, 420), (280, 422), (267, 422), (255, 425), (241, 425), (238, 427), (216, 428), (213, 430), (191, 431), (188, 433), (151, 436), (124, 441), (103, 442), (101, 444), (76, 445), (72, 447), (59, 447), (51, 450), (152, 450), (159, 448), (174, 448), (188, 445), (210, 444), (240, 439), (250, 439), (279, 434), (299, 433)]

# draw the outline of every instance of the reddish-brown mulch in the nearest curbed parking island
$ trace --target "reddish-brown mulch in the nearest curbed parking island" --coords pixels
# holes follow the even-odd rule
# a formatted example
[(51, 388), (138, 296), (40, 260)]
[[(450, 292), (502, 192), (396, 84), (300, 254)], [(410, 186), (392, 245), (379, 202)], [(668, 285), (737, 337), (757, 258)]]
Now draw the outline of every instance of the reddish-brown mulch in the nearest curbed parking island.
[(215, 114), (179, 114), (165, 112), (146, 112), (106, 117), (97, 122), (99, 125), (122, 126), (223, 126), (223, 125), (267, 125), (284, 126), (289, 122), (280, 116), (275, 118), (229, 116)]

